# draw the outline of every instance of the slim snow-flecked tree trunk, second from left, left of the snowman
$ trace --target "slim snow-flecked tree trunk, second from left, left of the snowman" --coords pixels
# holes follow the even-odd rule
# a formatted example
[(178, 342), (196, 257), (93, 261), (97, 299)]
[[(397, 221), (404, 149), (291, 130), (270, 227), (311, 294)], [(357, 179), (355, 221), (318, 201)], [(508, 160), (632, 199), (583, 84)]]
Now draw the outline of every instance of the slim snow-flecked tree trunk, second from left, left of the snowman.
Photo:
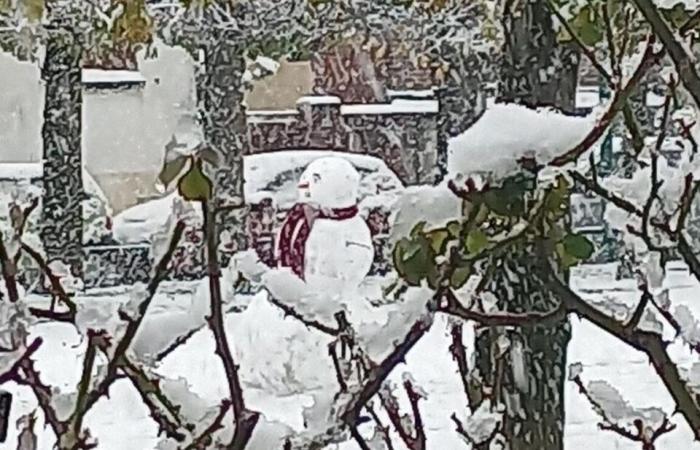
[[(220, 156), (214, 171), (216, 224), (221, 241), (231, 242), (222, 255), (246, 247), (243, 203), (243, 155), (247, 146), (247, 121), (243, 104), (245, 46), (231, 32), (211, 31), (203, 41), (204, 61), (197, 75), (197, 100), (205, 142)], [(228, 234), (229, 238), (222, 236)]]

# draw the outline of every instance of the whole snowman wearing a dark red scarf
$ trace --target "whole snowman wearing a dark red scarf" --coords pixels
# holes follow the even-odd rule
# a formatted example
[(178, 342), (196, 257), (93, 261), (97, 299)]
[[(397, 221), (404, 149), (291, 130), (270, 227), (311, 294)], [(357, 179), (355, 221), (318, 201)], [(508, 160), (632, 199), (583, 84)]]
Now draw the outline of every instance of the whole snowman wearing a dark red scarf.
[(333, 337), (287, 316), (273, 301), (329, 327), (340, 310), (351, 318), (354, 311), (364, 314), (360, 285), (374, 249), (357, 206), (359, 182), (354, 166), (337, 157), (316, 159), (301, 175), (298, 202), (277, 239), (278, 267), (266, 268), (263, 277), (270, 297), (256, 296), (229, 330), (244, 384), (278, 396), (337, 390), (328, 356)]

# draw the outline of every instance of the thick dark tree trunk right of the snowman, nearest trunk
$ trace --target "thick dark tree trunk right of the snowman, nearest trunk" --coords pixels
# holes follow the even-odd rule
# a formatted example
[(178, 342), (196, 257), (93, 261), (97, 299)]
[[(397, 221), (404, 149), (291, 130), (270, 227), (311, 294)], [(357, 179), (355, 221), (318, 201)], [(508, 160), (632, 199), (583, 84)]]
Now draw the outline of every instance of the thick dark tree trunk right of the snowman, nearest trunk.
[[(579, 55), (559, 46), (545, 0), (524, 0), (506, 8), (506, 33), (499, 101), (528, 107), (575, 110)], [(517, 11), (513, 11), (517, 9)], [(548, 311), (558, 303), (530, 276), (532, 249), (517, 248), (494, 261), (487, 290), (510, 312)], [(562, 274), (565, 277), (565, 274)], [(495, 340), (505, 335), (510, 350), (498, 358)], [(477, 333), (477, 366), (494, 395), (506, 405), (504, 435), (511, 450), (564, 448), (568, 320), (512, 330), (482, 328)]]

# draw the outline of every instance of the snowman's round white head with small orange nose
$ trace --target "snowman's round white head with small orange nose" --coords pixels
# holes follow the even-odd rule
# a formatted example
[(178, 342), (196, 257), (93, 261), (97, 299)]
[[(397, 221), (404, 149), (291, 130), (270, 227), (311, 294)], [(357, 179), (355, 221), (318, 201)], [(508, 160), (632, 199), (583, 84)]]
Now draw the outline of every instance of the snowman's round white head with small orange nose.
[(348, 208), (357, 204), (360, 174), (346, 159), (335, 156), (311, 162), (299, 178), (302, 201), (321, 208)]

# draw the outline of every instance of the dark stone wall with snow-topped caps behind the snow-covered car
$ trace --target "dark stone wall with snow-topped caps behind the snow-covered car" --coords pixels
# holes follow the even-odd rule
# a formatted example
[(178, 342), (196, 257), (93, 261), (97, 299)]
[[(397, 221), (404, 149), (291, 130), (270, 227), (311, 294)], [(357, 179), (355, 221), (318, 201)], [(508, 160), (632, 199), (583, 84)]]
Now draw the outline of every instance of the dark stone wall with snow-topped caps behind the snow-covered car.
[(369, 104), (306, 96), (296, 109), (248, 111), (248, 151), (362, 153), (382, 159), (406, 185), (432, 183), (438, 160), (438, 102), (425, 92), (391, 95), (387, 102)]

